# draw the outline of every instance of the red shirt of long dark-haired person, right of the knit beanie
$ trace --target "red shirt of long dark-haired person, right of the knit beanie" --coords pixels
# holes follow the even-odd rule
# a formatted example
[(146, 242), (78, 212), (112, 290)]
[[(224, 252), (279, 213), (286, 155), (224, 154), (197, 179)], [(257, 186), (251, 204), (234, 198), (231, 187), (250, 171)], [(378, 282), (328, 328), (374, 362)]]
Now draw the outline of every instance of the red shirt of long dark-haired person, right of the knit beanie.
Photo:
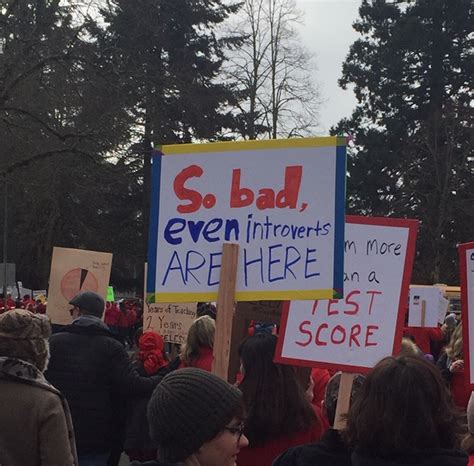
[(237, 456), (237, 466), (271, 466), (273, 461), (288, 448), (318, 442), (329, 427), (319, 408), (313, 406), (317, 420), (306, 431), (284, 435), (269, 440), (258, 447), (245, 447)]

